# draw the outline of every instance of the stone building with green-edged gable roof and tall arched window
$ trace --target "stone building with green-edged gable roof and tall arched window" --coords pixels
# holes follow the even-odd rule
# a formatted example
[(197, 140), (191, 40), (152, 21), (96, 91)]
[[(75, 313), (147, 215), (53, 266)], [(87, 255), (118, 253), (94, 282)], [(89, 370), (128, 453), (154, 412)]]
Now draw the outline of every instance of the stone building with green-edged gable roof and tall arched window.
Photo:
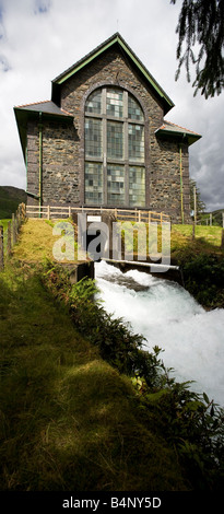
[(165, 121), (174, 103), (116, 33), (14, 107), (28, 205), (149, 209), (189, 222), (188, 148), (201, 136)]

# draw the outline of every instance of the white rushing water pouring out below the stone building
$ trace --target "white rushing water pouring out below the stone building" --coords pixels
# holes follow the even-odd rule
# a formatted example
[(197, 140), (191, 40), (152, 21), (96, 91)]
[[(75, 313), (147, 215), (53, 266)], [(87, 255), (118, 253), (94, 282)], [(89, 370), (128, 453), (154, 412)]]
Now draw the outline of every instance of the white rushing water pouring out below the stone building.
[(149, 351), (162, 348), (172, 376), (194, 381), (194, 392), (224, 407), (224, 309), (207, 312), (175, 282), (138, 270), (122, 273), (105, 261), (95, 262), (95, 278), (104, 308), (131, 323)]

